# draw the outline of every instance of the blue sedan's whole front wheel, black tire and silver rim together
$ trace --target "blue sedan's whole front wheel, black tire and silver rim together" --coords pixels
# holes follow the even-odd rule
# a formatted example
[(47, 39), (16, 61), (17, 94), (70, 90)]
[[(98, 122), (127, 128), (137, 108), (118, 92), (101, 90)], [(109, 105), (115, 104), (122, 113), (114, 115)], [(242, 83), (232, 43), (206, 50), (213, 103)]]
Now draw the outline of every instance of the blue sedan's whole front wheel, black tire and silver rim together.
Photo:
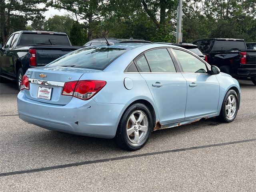
[(222, 122), (229, 123), (236, 118), (238, 112), (239, 100), (235, 90), (229, 90), (222, 102), (219, 119)]

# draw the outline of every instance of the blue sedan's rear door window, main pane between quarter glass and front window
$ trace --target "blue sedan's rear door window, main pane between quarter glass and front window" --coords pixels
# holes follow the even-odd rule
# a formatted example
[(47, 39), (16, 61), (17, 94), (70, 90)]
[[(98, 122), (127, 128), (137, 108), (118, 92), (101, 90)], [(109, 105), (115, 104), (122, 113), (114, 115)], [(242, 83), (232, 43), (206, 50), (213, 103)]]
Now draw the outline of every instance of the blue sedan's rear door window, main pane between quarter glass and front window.
[(176, 72), (172, 58), (166, 48), (145, 53), (151, 72)]

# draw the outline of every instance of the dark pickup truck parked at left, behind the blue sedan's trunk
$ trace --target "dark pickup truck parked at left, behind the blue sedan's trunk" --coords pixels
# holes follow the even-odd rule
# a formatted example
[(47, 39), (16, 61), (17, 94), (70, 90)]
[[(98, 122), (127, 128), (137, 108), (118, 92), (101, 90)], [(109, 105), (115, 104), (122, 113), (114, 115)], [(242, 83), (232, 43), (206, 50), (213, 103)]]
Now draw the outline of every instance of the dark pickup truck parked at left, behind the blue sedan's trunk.
[(17, 31), (0, 45), (0, 77), (21, 79), (28, 68), (45, 66), (80, 46), (72, 46), (66, 33), (47, 31)]

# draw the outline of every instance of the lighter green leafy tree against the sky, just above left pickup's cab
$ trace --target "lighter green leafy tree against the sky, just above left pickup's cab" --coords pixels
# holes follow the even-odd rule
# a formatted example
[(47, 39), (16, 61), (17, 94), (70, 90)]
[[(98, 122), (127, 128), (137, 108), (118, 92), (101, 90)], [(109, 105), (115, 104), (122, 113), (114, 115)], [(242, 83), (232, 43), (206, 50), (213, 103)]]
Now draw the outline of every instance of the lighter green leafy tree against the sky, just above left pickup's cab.
[(68, 14), (64, 16), (54, 15), (45, 22), (44, 30), (65, 32), (71, 38), (70, 29), (72, 28), (73, 22), (72, 16)]

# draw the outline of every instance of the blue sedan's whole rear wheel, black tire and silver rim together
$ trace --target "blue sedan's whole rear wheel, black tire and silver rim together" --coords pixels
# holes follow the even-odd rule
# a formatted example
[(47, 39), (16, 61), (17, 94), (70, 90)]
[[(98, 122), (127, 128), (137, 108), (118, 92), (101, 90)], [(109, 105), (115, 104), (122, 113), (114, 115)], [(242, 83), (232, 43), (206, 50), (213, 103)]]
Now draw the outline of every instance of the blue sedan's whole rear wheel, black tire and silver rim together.
[(148, 141), (152, 129), (150, 110), (142, 103), (135, 103), (124, 112), (114, 140), (124, 150), (139, 150)]

